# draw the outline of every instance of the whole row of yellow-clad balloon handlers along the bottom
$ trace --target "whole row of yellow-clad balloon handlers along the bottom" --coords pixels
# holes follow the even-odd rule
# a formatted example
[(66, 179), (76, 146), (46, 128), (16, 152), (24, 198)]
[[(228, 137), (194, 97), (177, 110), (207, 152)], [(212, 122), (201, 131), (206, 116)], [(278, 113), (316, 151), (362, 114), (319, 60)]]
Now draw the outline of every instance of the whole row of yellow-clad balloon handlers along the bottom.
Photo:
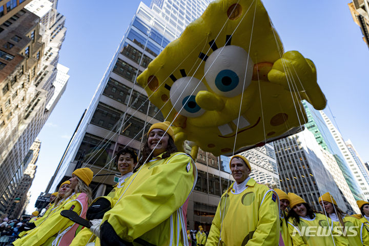
[[(4, 231), (12, 223), (12, 235), (18, 234), (10, 245), (369, 245), (369, 202), (358, 201), (361, 214), (349, 216), (325, 193), (319, 213), (297, 194), (257, 183), (242, 155), (230, 159), (235, 182), (222, 194), (209, 232), (201, 225), (189, 231), (187, 204), (197, 179), (193, 159), (177, 150), (168, 121), (153, 124), (144, 143), (140, 158), (129, 147), (116, 153), (121, 177), (107, 196), (91, 200), (93, 172), (80, 168), (52, 194), (45, 213), (22, 221), (29, 230), (19, 232), (19, 221), (4, 221)], [(64, 210), (90, 226), (61, 216)]]

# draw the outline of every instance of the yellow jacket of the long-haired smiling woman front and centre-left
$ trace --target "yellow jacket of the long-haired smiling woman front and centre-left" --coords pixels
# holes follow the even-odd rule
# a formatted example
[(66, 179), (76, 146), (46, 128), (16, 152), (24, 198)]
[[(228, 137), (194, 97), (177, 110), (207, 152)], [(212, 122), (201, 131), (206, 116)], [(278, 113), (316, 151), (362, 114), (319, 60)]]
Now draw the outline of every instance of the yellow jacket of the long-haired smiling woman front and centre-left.
[[(114, 208), (105, 213), (125, 241), (141, 238), (154, 245), (187, 245), (182, 205), (196, 183), (197, 170), (182, 152), (146, 162), (126, 181)], [(135, 244), (135, 243), (134, 243)]]

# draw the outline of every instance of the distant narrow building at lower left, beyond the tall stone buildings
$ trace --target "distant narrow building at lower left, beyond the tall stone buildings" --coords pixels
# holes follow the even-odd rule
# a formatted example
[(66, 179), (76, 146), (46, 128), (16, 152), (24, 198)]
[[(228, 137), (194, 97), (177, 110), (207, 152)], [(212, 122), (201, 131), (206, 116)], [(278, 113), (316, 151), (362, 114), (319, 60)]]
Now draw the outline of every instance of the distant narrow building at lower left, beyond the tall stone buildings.
[[(31, 148), (29, 149), (26, 157), (23, 160), (22, 166), (20, 166), (19, 168), (19, 182), (15, 183), (16, 191), (13, 193), (11, 202), (7, 204), (5, 209), (5, 213), (8, 214), (9, 217), (19, 218), (20, 215), (22, 215), (22, 213), (25, 211), (29, 203), (29, 189), (31, 188), (32, 181), (36, 174), (36, 161), (38, 158), (40, 147), (41, 141), (39, 141), (38, 139), (34, 140)], [(16, 198), (19, 199), (19, 202), (12, 202)]]

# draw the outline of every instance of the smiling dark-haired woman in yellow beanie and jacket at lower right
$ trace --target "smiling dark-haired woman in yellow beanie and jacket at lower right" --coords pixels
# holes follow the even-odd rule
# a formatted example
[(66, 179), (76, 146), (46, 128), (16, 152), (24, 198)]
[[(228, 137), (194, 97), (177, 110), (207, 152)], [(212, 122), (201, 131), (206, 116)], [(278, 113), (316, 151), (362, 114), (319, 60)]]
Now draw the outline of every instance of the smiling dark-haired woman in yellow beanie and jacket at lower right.
[(330, 218), (315, 213), (300, 196), (288, 193), (288, 197), (291, 210), (287, 219), (293, 245), (348, 245), (347, 239)]

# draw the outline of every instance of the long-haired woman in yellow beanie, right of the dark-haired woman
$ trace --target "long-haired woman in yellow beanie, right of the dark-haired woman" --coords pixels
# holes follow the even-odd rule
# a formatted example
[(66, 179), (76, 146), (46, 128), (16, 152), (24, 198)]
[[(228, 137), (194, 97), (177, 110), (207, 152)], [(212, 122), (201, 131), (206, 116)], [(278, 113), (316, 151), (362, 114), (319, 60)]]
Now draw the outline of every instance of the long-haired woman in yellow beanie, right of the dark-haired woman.
[(329, 192), (319, 197), (319, 203), (324, 214), (330, 217), (333, 223), (341, 229), (350, 245), (369, 245), (369, 233), (363, 228), (360, 220), (343, 213)]

